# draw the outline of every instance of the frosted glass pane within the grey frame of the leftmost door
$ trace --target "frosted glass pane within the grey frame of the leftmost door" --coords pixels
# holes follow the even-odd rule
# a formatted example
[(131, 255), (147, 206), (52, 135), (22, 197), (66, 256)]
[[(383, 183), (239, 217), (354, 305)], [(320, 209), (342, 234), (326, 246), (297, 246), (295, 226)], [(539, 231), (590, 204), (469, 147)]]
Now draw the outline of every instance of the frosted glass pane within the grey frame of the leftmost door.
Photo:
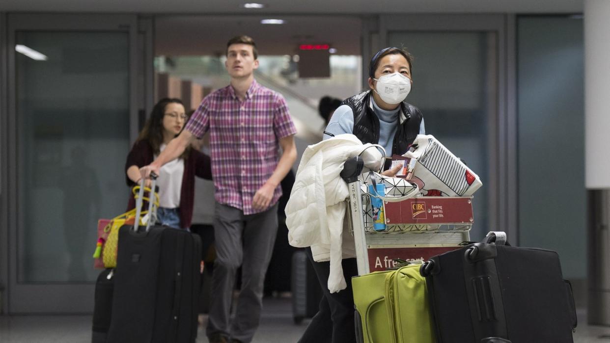
[(94, 281), (91, 228), (125, 201), (129, 34), (17, 31), (15, 43), (46, 56), (15, 58), (18, 282)]

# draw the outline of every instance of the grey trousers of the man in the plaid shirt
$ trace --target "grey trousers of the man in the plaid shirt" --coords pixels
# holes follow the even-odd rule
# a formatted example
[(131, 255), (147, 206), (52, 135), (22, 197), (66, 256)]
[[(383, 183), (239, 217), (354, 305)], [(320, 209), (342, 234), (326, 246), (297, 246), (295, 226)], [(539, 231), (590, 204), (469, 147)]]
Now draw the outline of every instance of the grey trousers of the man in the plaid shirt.
[[(277, 203), (267, 211), (248, 215), (237, 208), (216, 203), (216, 261), (206, 329), (208, 337), (220, 333), (243, 343), (252, 341), (259, 327), (265, 272), (277, 233)], [(235, 317), (229, 326), (239, 266), (242, 266), (242, 289), (237, 299)]]

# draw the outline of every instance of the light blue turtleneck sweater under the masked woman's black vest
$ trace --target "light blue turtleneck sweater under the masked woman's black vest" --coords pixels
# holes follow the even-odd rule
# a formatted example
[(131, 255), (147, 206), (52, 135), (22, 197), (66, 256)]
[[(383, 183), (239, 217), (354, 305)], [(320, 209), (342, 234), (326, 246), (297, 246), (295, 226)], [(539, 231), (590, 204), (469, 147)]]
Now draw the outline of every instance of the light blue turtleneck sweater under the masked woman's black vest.
[[(371, 102), (373, 103), (373, 111), (379, 118), (379, 145), (386, 149), (387, 157), (392, 157), (392, 154), (404, 154), (406, 151), (392, 151), (392, 143), (394, 141), (394, 135), (398, 128), (398, 116), (400, 115), (400, 106), (395, 110), (386, 111), (379, 108), (375, 104), (375, 100), (371, 96)], [(342, 133), (352, 133), (354, 129), (354, 113), (351, 107), (348, 105), (341, 105), (335, 113), (332, 115), (331, 121), (326, 126), (326, 132), (332, 133), (332, 135), (341, 135)], [(426, 129), (423, 124), (420, 125), (420, 135), (425, 135)], [(324, 134), (325, 140), (331, 138), (331, 135)]]

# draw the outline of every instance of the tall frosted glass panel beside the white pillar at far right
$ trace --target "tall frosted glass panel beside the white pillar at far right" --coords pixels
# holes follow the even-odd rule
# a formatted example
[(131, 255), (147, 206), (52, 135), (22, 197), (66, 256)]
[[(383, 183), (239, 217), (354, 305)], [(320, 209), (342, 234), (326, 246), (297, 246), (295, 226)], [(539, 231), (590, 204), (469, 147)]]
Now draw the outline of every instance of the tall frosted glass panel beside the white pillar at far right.
[(517, 18), (520, 242), (558, 252), (578, 286), (587, 278), (583, 34), (574, 16)]

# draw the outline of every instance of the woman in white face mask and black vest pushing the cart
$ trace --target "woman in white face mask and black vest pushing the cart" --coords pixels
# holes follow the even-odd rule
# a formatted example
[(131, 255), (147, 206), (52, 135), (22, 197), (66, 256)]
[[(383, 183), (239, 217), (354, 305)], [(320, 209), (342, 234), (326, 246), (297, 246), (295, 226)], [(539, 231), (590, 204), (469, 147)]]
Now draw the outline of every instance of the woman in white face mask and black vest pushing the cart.
[[(388, 156), (404, 154), (415, 136), (425, 133), (422, 113), (405, 101), (412, 85), (411, 60), (411, 54), (404, 49), (385, 48), (377, 52), (368, 69), (370, 90), (342, 102), (326, 126), (324, 139), (351, 133), (362, 143), (380, 144)], [(398, 165), (382, 174), (393, 176), (400, 168)], [(356, 256), (344, 249), (342, 267), (347, 287), (331, 293), (327, 287), (329, 262), (315, 262), (310, 248), (306, 253), (324, 295), (320, 310), (299, 343), (356, 342), (351, 288), (351, 277), (358, 275)]]

